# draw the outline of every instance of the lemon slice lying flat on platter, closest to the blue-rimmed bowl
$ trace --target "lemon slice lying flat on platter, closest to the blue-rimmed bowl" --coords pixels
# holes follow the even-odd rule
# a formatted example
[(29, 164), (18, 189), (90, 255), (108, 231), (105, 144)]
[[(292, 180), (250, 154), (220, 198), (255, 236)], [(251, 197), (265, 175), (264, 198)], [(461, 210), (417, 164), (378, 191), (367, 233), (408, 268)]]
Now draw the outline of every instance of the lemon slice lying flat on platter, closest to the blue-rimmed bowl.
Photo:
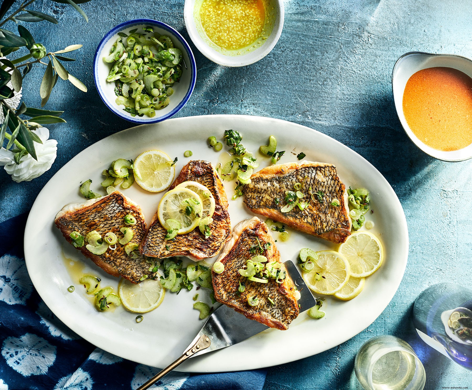
[(176, 175), (169, 155), (160, 150), (148, 150), (133, 163), (135, 181), (146, 191), (160, 192), (169, 188)]

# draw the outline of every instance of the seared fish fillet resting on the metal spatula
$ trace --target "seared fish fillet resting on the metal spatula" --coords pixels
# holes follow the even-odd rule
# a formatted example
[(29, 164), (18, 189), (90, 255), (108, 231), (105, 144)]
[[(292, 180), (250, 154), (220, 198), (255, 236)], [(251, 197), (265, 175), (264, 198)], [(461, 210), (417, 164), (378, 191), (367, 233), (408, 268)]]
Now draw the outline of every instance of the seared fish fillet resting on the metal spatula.
[[(264, 249), (263, 253), (268, 263), (273, 261), (281, 263), (280, 253), (264, 222), (254, 217), (238, 223), (233, 231), (233, 237), (218, 258), (218, 261), (225, 265), (224, 271), (220, 274), (212, 272), (215, 299), (251, 320), (281, 331), (287, 330), (290, 322), (295, 320), (299, 313), (295, 286), (288, 273), (280, 284), (274, 279), (269, 279), (269, 282), (264, 284), (250, 281), (238, 272), (247, 260), (259, 254), (250, 251), (253, 246), (259, 245), (257, 239), (262, 248), (270, 243), (269, 249)], [(280, 269), (287, 272), (283, 263)], [(240, 282), (245, 285), (242, 293), (238, 292)], [(259, 298), (259, 304), (256, 306), (247, 303), (247, 298), (253, 296)], [(270, 304), (268, 298), (272, 299), (274, 305)]]

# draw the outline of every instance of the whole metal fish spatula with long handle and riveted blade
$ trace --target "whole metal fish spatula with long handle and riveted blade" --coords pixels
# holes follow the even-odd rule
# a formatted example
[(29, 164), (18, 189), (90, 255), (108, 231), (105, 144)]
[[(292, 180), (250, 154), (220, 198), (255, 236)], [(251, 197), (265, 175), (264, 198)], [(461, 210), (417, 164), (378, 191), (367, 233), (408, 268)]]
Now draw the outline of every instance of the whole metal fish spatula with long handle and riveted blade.
[[(296, 265), (290, 260), (287, 260), (284, 265), (296, 288), (300, 291), (301, 297), (298, 304), (300, 305), (300, 313), (303, 313), (316, 305), (316, 299), (312, 296), (310, 289), (306, 287)], [(189, 357), (200, 356), (207, 352), (229, 347), (266, 329), (268, 329), (268, 326), (261, 324), (261, 322), (250, 320), (233, 308), (221, 305), (211, 314), (202, 330), (185, 349), (184, 354), (137, 390), (148, 389)]]

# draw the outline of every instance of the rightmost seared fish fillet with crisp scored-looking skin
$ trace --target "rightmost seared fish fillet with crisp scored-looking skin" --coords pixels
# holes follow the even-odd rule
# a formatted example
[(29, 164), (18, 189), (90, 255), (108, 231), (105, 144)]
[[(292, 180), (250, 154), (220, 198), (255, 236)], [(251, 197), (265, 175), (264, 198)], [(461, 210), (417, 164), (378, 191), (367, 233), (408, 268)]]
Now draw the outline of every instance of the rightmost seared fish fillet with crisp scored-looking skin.
[[(289, 212), (281, 212), (287, 204), (286, 191), (296, 191), (295, 183), (302, 185), (302, 201), (309, 204), (304, 210), (295, 206)], [(321, 201), (317, 193), (322, 196)], [(251, 184), (243, 187), (243, 194), (244, 203), (252, 212), (293, 229), (336, 243), (346, 241), (351, 234), (346, 186), (337, 177), (334, 165), (312, 161), (271, 165), (251, 176)], [(340, 206), (330, 205), (333, 199)]]

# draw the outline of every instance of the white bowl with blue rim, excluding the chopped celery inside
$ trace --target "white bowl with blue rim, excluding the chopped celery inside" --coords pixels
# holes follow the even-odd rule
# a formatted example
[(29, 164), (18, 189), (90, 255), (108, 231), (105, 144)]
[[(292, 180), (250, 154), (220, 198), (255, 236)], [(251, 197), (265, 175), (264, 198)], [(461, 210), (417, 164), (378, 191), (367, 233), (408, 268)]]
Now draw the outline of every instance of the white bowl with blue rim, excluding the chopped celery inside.
[[(103, 57), (110, 54), (110, 49), (119, 38), (118, 33), (128, 34), (130, 30), (135, 28), (142, 30), (143, 27), (151, 26), (154, 32), (160, 35), (167, 35), (170, 37), (174, 46), (182, 51), (182, 76), (180, 81), (172, 86), (174, 93), (169, 96), (170, 103), (163, 109), (156, 110), (156, 115), (152, 118), (143, 115), (133, 117), (129, 112), (126, 112), (123, 105), (118, 105), (115, 100), (115, 83), (107, 82), (107, 76), (110, 72), (112, 64), (103, 61)], [(195, 87), (195, 80), (197, 77), (197, 68), (195, 65), (195, 58), (190, 46), (185, 41), (184, 37), (174, 28), (165, 23), (152, 19), (135, 19), (128, 22), (123, 22), (112, 28), (100, 41), (95, 57), (93, 58), (93, 80), (101, 100), (105, 105), (117, 114), (119, 117), (129, 120), (137, 124), (157, 123), (168, 119), (175, 115), (185, 103), (190, 99)]]

